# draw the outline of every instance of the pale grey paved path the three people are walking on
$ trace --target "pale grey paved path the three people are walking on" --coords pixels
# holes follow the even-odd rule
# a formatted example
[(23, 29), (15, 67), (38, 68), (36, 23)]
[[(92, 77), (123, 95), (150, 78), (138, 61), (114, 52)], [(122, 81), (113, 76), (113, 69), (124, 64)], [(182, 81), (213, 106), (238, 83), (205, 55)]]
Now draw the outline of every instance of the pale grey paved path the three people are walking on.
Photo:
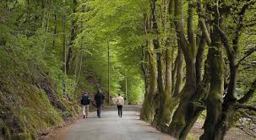
[(125, 106), (123, 118), (117, 116), (116, 107), (102, 110), (101, 118), (95, 112), (68, 127), (65, 140), (170, 140), (149, 124), (139, 120), (140, 106)]

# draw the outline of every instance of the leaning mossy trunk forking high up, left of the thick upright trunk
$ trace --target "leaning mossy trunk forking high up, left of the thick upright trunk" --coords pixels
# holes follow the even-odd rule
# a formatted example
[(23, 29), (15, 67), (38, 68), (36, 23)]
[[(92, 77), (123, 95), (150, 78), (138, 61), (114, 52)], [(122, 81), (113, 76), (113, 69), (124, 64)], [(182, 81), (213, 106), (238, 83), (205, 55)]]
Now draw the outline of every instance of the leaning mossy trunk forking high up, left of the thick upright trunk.
[[(183, 87), (180, 97), (180, 104), (172, 117), (172, 122), (168, 127), (168, 133), (178, 139), (185, 139), (188, 130), (196, 121), (200, 112), (204, 109), (198, 104), (198, 100), (204, 93), (193, 97), (198, 91), (202, 91), (200, 87), (196, 87), (196, 69), (195, 69), (195, 52), (196, 44), (193, 36), (193, 6), (188, 4), (188, 41), (183, 32), (183, 9), (182, 0), (175, 0), (175, 25), (177, 30), (178, 45), (181, 46), (186, 62), (186, 83)], [(201, 86), (203, 87), (203, 86)]]

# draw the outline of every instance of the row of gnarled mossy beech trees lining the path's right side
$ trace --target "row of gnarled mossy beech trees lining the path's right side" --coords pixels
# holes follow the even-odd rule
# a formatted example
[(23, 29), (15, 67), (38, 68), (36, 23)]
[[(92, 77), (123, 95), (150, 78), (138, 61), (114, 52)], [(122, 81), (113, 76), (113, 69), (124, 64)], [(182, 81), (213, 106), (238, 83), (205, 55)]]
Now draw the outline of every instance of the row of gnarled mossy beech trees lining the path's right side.
[[(255, 110), (253, 105), (245, 105), (253, 98), (255, 81), (239, 99), (236, 90), (238, 67), (255, 51), (255, 44), (251, 43), (249, 47), (244, 46), (243, 53), (239, 52), (242, 32), (253, 35), (253, 30), (249, 29), (255, 27), (252, 17), (255, 1), (152, 0), (149, 3), (151, 25), (145, 27), (151, 27), (147, 34), (154, 36), (148, 41), (154, 46), (151, 44), (149, 54), (155, 55), (157, 80), (149, 78), (157, 83), (154, 94), (145, 94), (144, 105), (151, 103), (151, 106), (147, 105), (150, 111), (143, 107), (141, 119), (152, 121), (162, 132), (185, 139), (206, 109), (204, 134), (200, 139), (223, 139), (226, 131), (239, 120), (238, 112)], [(169, 25), (167, 30), (163, 28), (166, 24)], [(173, 39), (173, 33), (177, 38), (170, 43), (168, 40)], [(205, 52), (208, 52), (206, 58)], [(183, 59), (185, 74), (182, 74)], [(229, 69), (225, 69), (225, 65), (229, 65)], [(152, 69), (149, 71), (152, 73)], [(149, 84), (148, 93), (151, 86)], [(143, 117), (145, 112), (150, 119)]]

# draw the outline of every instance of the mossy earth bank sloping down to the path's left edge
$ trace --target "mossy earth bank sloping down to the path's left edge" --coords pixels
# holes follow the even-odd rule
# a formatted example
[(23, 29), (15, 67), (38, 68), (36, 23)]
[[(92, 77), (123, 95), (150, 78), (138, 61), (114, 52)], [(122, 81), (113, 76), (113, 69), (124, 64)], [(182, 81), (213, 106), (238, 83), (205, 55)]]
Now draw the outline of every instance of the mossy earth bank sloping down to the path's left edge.
[(78, 113), (75, 96), (63, 98), (47, 69), (34, 61), (1, 48), (0, 72), (0, 139), (37, 139), (37, 130)]

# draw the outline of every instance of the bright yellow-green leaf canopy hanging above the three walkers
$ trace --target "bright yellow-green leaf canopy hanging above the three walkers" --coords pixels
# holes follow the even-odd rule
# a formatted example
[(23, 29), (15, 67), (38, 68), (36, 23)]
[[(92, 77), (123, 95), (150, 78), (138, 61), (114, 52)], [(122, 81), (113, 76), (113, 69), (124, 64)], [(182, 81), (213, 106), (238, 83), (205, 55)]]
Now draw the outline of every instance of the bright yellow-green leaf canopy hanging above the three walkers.
[[(75, 46), (85, 50), (84, 67), (90, 68), (101, 80), (101, 88), (108, 89), (108, 47), (110, 51), (110, 93), (122, 93), (124, 78), (128, 78), (131, 103), (141, 100), (142, 85), (140, 46), (144, 44), (143, 2), (135, 1), (80, 1), (78, 19), (80, 33)], [(118, 17), (118, 18), (117, 18)], [(134, 73), (136, 71), (137, 73)], [(132, 74), (133, 73), (133, 74)], [(130, 87), (129, 87), (130, 86)], [(122, 91), (123, 90), (123, 91)], [(128, 96), (129, 96), (128, 95)]]

